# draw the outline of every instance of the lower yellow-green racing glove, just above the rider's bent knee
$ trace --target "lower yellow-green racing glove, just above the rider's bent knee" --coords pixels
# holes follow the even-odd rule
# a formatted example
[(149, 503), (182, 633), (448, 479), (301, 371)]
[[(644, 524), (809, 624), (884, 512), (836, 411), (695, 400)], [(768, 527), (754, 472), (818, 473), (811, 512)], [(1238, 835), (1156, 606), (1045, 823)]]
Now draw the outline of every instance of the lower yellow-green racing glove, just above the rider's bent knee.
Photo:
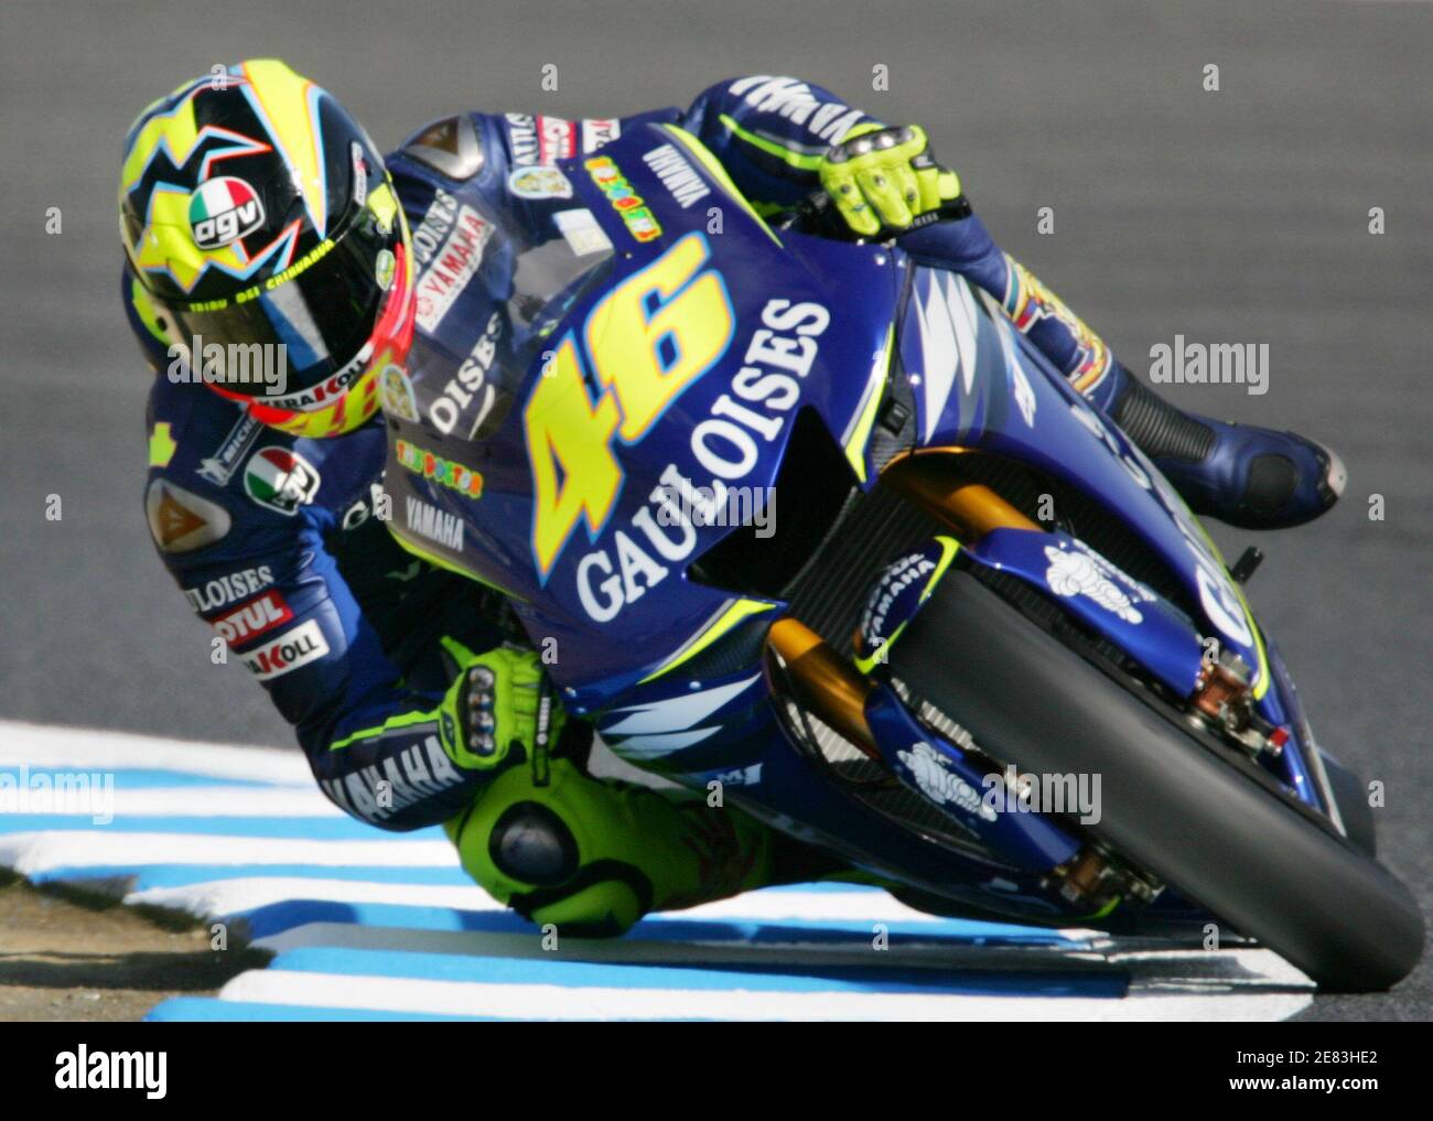
[(535, 651), (503, 645), (473, 654), (456, 638), (441, 642), (457, 665), (441, 705), (443, 747), (453, 763), (499, 771), (535, 750), (552, 748), (565, 717), (545, 688)]

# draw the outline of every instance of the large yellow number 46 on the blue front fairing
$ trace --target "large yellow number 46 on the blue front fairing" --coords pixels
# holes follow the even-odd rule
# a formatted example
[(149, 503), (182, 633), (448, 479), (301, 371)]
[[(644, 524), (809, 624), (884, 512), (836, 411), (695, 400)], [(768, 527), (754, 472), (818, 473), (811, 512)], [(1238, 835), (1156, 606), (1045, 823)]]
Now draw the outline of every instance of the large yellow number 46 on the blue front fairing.
[[(721, 274), (705, 268), (709, 258), (706, 238), (688, 234), (598, 301), (580, 348), (569, 330), (547, 358), (523, 410), (536, 492), (532, 548), (545, 582), (577, 520), (596, 536), (612, 515), (622, 489), (613, 437), (639, 442), (731, 345), (735, 314)], [(602, 387), (595, 401), (583, 351)]]

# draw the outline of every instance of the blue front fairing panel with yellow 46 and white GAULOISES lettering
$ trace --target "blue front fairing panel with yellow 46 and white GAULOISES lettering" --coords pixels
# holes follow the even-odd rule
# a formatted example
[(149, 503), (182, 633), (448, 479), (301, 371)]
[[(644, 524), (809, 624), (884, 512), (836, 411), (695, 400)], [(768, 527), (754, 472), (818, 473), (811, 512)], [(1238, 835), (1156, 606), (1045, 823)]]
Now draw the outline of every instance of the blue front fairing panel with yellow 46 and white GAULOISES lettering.
[[(814, 410), (847, 449), (853, 474), (864, 474), (867, 487), (874, 485), (866, 437), (887, 374), (901, 271), (890, 251), (876, 247), (800, 234), (778, 239), (731, 192), (725, 175), (716, 173), (719, 166), (714, 172), (696, 153), (695, 139), (679, 132), (643, 125), (602, 149), (603, 161), (618, 168), (659, 229), (646, 241), (635, 239), (623, 211), (599, 188), (586, 161), (559, 165), (572, 185), (573, 206), (590, 211), (618, 252), (600, 284), (580, 291), (552, 327), (550, 347), (533, 358), (496, 433), (486, 440), (453, 439), (430, 426), (390, 419), (424, 452), (483, 476), (481, 496), (471, 497), (404, 469), (390, 453), (394, 532), (414, 552), (507, 591), (535, 644), (556, 642), (557, 658), (549, 668), (579, 714), (613, 702), (749, 615), (777, 606), (695, 583), (686, 566), (737, 528), (704, 525), (699, 512), (719, 516), (724, 509), (749, 509), (751, 500), (771, 493), (800, 410)], [(708, 234), (708, 206), (684, 209), (643, 162), (643, 155), (662, 146), (686, 153), (694, 172), (711, 186), (711, 199), (729, 201), (719, 206), (719, 232)], [(663, 290), (661, 282), (674, 274), (674, 254), (699, 265)], [(711, 298), (715, 290), (708, 282), (701, 311), (718, 321), (686, 323), (695, 301), (684, 305), (682, 297), (706, 277), (721, 285), (722, 298)], [(699, 331), (722, 345), (712, 347), (719, 351), (714, 360), (686, 377), (639, 433), (628, 436), (620, 384), (628, 367), (616, 364), (606, 383), (600, 373), (602, 351), (620, 354), (625, 345), (620, 333), (609, 330), (615, 318), (609, 297), (619, 290), (641, 291), (649, 278), (642, 302), (648, 323), (665, 313), (662, 325), (671, 328), (652, 340), (659, 366), (681, 363), (684, 331)], [(535, 406), (555, 353), (576, 363), (577, 373), (563, 393), (547, 387)], [(424, 414), (423, 396), (434, 390), (418, 374), (414, 387)], [(570, 409), (576, 393), (586, 397)], [(622, 424), (595, 447), (588, 431), (572, 431), (569, 439), (566, 427), (547, 423), (565, 410), (579, 419), (605, 411), (620, 416)], [(546, 566), (535, 548), (533, 469), (545, 447), (532, 434), (545, 426), (556, 431), (552, 439), (569, 442), (572, 472), (563, 470), (569, 460), (562, 452), (553, 454), (559, 489), (573, 477), (588, 486), (595, 469), (608, 469), (608, 454), (618, 479), (600, 503), (589, 503), (582, 516), (559, 526), (563, 536)], [(459, 548), (423, 536), (421, 519), (433, 522), (424, 505), (463, 523)], [(648, 595), (655, 586), (662, 595)]]

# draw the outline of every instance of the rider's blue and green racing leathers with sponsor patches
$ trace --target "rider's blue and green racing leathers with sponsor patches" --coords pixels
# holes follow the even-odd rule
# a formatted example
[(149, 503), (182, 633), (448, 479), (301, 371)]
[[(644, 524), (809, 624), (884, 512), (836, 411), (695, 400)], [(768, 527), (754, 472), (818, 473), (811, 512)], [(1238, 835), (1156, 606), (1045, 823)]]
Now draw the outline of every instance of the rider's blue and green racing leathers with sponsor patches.
[[(648, 123), (692, 133), (764, 214), (815, 191), (833, 145), (881, 126), (818, 86), (765, 76), (712, 86), (686, 112), (585, 120), (461, 113), (428, 125), (385, 161), (413, 238), (410, 366), (461, 371), (493, 361), (506, 344), (512, 278), (494, 264), (503, 231), (524, 244), (555, 235), (546, 225), (550, 208), (533, 201), (540, 172), (526, 189), (520, 172), (596, 152)], [(960, 198), (946, 201), (954, 214), (969, 211)], [(1098, 391), (1113, 361), (1105, 344), (1003, 254), (977, 218), (941, 226), (939, 241), (913, 251), (992, 292), (1078, 388)], [(125, 295), (158, 373), (145, 503), (160, 558), (212, 628), (211, 641), (262, 682), (295, 727), (320, 787), (338, 807), (388, 830), (449, 823), (464, 867), (499, 899), (524, 900), (524, 913), (539, 919), (592, 919), (602, 929), (629, 926), (648, 909), (820, 870), (818, 860), (794, 857), (735, 810), (702, 819), (701, 801), (598, 783), (566, 763), (553, 783), (560, 797), (543, 803), (523, 768), (487, 765), (466, 740), (471, 712), (463, 675), (480, 657), (474, 651), (522, 648), (527, 639), (499, 591), (416, 559), (385, 530), (393, 512), (381, 485), (383, 417), (321, 440), (268, 429), (176, 371), (128, 272)], [(450, 400), (453, 416), (430, 420), (444, 430), (457, 423), (476, 430), (481, 403), (463, 393)], [(569, 735), (576, 725), (569, 721)], [(519, 751), (500, 763), (522, 758)], [(555, 827), (566, 830), (563, 844), (504, 847), (503, 837), (537, 836), (553, 821), (514, 823), (499, 788), (513, 806), (546, 806), (560, 819)], [(507, 833), (499, 836), (504, 823)], [(470, 829), (480, 833), (471, 843)], [(643, 829), (679, 843), (663, 849), (652, 837), (619, 836)], [(545, 876), (523, 873), (524, 860), (536, 867), (565, 846), (592, 857), (620, 852), (609, 863), (636, 866), (638, 874), (618, 876), (620, 887), (603, 886), (577, 874), (572, 860), (545, 866)], [(706, 850), (702, 859), (691, 857), (696, 849)]]

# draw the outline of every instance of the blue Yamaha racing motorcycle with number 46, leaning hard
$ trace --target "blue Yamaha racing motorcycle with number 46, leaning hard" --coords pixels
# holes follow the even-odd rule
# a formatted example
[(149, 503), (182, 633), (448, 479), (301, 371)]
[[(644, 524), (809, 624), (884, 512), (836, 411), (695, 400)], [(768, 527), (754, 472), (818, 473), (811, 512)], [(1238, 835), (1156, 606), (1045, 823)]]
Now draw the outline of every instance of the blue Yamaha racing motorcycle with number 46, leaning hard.
[(675, 126), (555, 172), (562, 237), (514, 251), (492, 345), (457, 377), (420, 345), (385, 401), (385, 486), (569, 712), (923, 910), (1215, 923), (1338, 991), (1413, 969), (1251, 558), (996, 301), (815, 237), (820, 199), (770, 225)]

